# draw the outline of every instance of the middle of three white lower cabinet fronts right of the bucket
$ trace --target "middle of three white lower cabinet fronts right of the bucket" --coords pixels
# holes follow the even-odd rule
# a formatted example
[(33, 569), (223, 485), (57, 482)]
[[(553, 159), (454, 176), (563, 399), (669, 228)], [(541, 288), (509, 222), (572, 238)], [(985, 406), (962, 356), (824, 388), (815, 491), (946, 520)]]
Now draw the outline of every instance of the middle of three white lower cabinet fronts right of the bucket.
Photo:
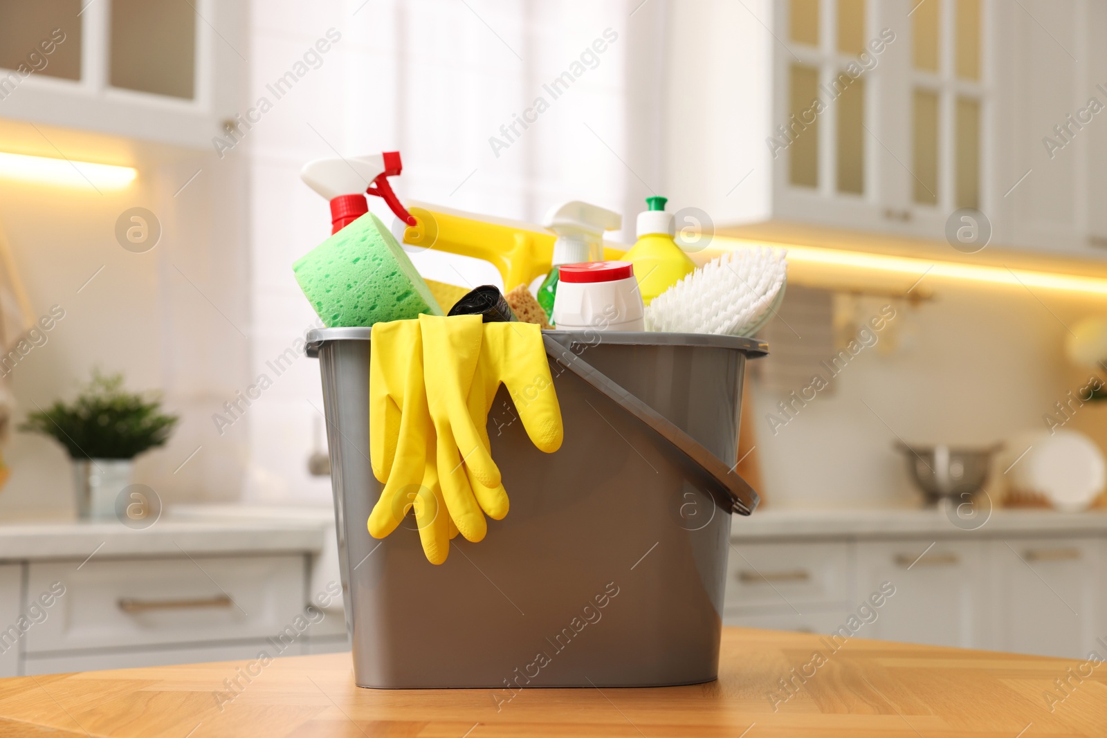
[(919, 539), (857, 545), (858, 602), (896, 588), (863, 636), (938, 646), (981, 645), (987, 602), (982, 543)]

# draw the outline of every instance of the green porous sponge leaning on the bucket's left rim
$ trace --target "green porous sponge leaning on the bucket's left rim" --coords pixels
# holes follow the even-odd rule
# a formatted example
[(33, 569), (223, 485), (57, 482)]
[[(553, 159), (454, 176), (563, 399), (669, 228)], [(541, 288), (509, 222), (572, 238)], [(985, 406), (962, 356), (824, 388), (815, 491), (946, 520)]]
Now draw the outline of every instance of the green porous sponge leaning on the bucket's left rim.
[(327, 328), (444, 314), (407, 253), (366, 212), (292, 264)]

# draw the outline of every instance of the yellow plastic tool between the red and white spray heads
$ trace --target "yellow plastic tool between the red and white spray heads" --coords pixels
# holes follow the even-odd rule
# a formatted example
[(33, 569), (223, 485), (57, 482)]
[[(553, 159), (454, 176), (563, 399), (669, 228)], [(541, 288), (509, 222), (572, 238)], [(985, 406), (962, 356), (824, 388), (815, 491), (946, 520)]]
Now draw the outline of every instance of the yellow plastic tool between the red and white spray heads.
[[(550, 270), (556, 237), (531, 224), (477, 216), (437, 206), (407, 208), (415, 225), (404, 229), (404, 243), (484, 259), (499, 271), (504, 290), (530, 284)], [(623, 251), (604, 248), (604, 259)]]

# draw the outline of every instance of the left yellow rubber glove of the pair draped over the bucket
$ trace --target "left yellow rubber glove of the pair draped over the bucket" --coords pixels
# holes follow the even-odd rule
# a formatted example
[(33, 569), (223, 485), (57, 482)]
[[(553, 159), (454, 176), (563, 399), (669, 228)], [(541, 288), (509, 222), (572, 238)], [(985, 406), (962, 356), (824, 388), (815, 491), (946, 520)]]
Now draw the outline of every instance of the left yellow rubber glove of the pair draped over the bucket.
[(457, 531), (438, 481), (421, 337), (417, 320), (373, 325), (369, 451), (373, 475), (384, 482), (384, 489), (368, 528), (373, 538), (384, 538), (414, 507), (423, 552), (427, 561), (439, 564)]

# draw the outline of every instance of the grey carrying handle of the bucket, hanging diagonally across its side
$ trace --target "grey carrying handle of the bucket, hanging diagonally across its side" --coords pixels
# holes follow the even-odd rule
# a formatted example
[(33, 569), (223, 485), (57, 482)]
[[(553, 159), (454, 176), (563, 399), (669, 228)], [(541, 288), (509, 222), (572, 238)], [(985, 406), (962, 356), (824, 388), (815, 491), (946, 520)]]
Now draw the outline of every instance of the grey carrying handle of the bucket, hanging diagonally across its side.
[(717, 456), (704, 448), (700, 441), (558, 341), (544, 334), (542, 342), (546, 344), (546, 354), (550, 358), (559, 362), (581, 380), (613, 399), (702, 468), (726, 492), (732, 512), (747, 516), (754, 511), (761, 498), (737, 471), (728, 469)]

